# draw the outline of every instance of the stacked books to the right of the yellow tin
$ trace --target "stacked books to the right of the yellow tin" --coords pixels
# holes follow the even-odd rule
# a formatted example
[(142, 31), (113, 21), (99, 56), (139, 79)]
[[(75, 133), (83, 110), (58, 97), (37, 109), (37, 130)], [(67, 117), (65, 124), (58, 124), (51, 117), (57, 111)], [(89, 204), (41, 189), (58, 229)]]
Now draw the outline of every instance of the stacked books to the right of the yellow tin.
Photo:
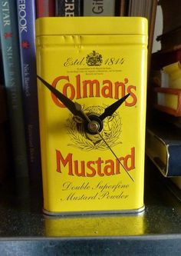
[(181, 189), (181, 2), (159, 5), (163, 33), (157, 37), (161, 49), (151, 58), (146, 154)]

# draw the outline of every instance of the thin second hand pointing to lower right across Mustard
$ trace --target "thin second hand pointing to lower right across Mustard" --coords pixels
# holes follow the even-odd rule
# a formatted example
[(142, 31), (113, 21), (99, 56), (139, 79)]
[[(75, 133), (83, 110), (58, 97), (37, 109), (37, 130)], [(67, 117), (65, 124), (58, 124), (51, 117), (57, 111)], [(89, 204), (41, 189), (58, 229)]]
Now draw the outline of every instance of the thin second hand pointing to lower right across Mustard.
[[(129, 95), (128, 95), (128, 96), (129, 96)], [(128, 96), (127, 96), (127, 97), (128, 97)], [(97, 121), (94, 121), (94, 120), (92, 121), (92, 120), (84, 113), (84, 111), (82, 110), (82, 106), (81, 106), (79, 103), (75, 102), (75, 105), (76, 105), (76, 108), (79, 109), (79, 110), (82, 112), (82, 114), (84, 115), (84, 117), (85, 117), (86, 120), (88, 121), (88, 129), (91, 130), (91, 131), (94, 131), (94, 132), (96, 132), (98, 135), (100, 135), (100, 132), (99, 132), (100, 125), (99, 125), (99, 123), (98, 123)], [(114, 155), (114, 157), (117, 159), (117, 161), (118, 161), (118, 162), (120, 163), (120, 165), (123, 167), (124, 171), (126, 171), (127, 175), (130, 177), (130, 179), (131, 179), (132, 181), (134, 181), (133, 178), (131, 177), (131, 175), (129, 174), (129, 172), (126, 170), (126, 168), (125, 168), (125, 167), (123, 166), (123, 164), (121, 163), (120, 159), (117, 158), (117, 155), (114, 153), (114, 151), (112, 150), (112, 148), (110, 148), (110, 146), (107, 144), (107, 141), (103, 138), (102, 135), (100, 135), (100, 138), (101, 138), (101, 139), (104, 141), (104, 143), (107, 145), (107, 148), (110, 149), (110, 151), (112, 152), (112, 154)]]

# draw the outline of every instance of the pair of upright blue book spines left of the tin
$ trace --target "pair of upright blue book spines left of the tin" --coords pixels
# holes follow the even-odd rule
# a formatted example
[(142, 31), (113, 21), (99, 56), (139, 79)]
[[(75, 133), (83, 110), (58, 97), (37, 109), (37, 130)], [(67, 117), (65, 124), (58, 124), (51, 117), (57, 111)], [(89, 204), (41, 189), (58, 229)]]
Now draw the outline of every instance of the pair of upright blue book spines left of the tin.
[(1, 1), (2, 64), (16, 178), (41, 178), (35, 59), (35, 1)]

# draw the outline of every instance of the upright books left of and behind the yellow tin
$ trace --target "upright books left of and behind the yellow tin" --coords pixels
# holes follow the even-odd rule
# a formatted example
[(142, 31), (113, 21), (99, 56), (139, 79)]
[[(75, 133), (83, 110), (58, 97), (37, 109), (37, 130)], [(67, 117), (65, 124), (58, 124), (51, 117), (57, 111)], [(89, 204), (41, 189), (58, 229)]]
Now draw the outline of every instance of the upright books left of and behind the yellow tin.
[[(35, 19), (44, 16), (144, 16), (153, 26), (156, 0), (7, 0), (0, 1), (1, 53), (16, 178), (41, 180)], [(151, 30), (151, 29), (150, 29)], [(150, 36), (152, 38), (152, 36)], [(2, 103), (1, 103), (2, 108)], [(4, 143), (6, 145), (6, 143)], [(5, 148), (5, 145), (2, 148)], [(3, 169), (3, 168), (2, 168)], [(5, 169), (5, 168), (4, 168)]]

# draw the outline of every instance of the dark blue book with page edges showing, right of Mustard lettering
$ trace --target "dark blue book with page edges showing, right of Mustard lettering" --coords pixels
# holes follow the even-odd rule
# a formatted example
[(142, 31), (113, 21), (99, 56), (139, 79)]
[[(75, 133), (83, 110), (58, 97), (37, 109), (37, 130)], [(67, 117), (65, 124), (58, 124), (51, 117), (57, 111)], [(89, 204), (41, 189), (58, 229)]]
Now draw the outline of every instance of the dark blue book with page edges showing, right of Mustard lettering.
[(166, 122), (147, 125), (146, 155), (165, 177), (181, 175), (180, 129)]

